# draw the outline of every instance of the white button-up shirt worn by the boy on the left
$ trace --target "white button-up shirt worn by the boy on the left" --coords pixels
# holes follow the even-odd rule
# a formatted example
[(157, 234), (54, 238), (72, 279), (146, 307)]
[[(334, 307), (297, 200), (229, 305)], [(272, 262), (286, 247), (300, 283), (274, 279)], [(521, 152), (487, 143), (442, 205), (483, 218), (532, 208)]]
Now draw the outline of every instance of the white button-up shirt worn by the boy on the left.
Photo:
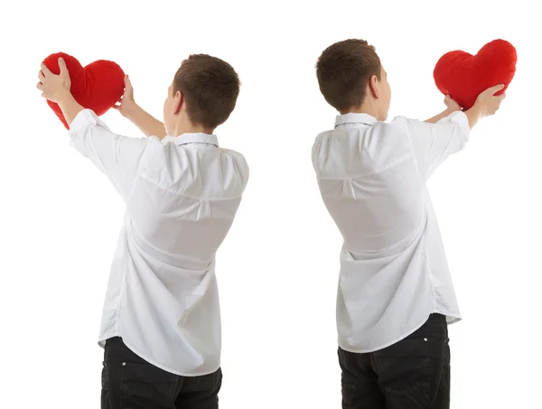
[(247, 186), (245, 158), (220, 149), (216, 135), (163, 141), (116, 135), (88, 109), (73, 120), (70, 137), (126, 201), (99, 345), (119, 336), (135, 354), (173, 374), (216, 371), (215, 253)]

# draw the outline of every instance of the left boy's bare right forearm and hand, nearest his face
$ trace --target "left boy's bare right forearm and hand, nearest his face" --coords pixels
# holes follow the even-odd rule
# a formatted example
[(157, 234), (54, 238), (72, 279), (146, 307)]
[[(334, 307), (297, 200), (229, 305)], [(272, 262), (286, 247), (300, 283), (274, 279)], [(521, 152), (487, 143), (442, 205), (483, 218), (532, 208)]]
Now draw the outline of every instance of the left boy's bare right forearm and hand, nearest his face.
[(125, 92), (120, 104), (114, 108), (137, 126), (145, 136), (157, 136), (163, 139), (166, 135), (164, 124), (135, 103), (134, 88), (127, 75), (125, 77)]

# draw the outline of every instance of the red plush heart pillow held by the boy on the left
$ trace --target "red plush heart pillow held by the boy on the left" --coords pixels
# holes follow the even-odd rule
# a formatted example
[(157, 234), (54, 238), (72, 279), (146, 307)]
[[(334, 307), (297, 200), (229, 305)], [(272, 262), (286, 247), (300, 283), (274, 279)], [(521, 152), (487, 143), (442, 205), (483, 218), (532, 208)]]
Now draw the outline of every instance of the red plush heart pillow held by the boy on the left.
[[(59, 58), (66, 62), (71, 79), (71, 95), (81, 106), (92, 109), (100, 116), (117, 104), (122, 97), (125, 73), (115, 62), (98, 60), (83, 67), (74, 57), (57, 52), (43, 60), (43, 64), (57, 75), (61, 72)], [(61, 107), (49, 100), (47, 103), (66, 129), (70, 129), (62, 115)]]

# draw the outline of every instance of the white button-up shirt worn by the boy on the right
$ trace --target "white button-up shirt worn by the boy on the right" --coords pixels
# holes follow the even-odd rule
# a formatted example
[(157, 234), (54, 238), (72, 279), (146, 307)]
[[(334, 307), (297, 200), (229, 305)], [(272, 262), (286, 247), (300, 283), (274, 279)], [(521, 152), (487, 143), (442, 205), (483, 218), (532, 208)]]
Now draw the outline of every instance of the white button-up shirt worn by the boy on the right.
[(313, 167), (322, 200), (341, 231), (339, 346), (384, 349), (430, 313), (461, 320), (427, 178), (470, 135), (467, 116), (436, 124), (367, 114), (337, 116), (318, 135)]

